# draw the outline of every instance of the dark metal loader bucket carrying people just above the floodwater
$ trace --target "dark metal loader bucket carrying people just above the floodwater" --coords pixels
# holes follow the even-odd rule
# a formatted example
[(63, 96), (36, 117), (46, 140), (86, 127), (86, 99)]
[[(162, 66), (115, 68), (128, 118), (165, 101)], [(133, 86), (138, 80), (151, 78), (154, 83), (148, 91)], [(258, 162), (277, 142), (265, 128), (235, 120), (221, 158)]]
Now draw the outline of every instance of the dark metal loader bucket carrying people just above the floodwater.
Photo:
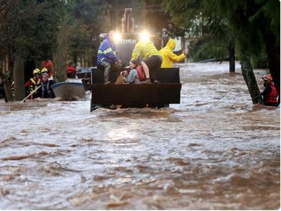
[(122, 108), (165, 107), (181, 102), (178, 68), (162, 68), (157, 84), (103, 84), (102, 70), (92, 70), (91, 112), (96, 108), (122, 105)]

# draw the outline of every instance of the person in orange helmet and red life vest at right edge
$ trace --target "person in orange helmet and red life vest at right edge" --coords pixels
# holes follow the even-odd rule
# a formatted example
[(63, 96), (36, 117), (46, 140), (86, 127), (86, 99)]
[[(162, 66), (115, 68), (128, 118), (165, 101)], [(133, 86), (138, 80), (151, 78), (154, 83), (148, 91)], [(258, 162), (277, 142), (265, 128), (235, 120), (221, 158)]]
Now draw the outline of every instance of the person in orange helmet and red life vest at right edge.
[(273, 79), (270, 74), (264, 75), (263, 79), (263, 87), (266, 87), (263, 92), (261, 92), (261, 96), (263, 96), (263, 103), (266, 106), (278, 106), (278, 92), (273, 84)]

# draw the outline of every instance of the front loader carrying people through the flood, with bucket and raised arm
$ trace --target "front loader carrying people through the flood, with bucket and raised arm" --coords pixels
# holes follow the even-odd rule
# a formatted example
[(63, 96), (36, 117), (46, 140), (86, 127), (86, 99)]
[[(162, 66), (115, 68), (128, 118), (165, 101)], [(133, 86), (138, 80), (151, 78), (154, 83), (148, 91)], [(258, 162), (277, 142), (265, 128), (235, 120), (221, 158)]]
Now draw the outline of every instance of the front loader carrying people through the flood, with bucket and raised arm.
[[(133, 32), (134, 20), (132, 9), (125, 8), (122, 18), (122, 33), (116, 41), (117, 56), (122, 63), (129, 63), (131, 53), (138, 40)], [(115, 82), (122, 70), (112, 68), (110, 80)], [(180, 103), (181, 83), (179, 68), (161, 68), (157, 72), (160, 83), (157, 84), (104, 84), (103, 70), (91, 68), (91, 83), (84, 84), (91, 90), (91, 112), (97, 108), (162, 108), (169, 107), (169, 103)]]

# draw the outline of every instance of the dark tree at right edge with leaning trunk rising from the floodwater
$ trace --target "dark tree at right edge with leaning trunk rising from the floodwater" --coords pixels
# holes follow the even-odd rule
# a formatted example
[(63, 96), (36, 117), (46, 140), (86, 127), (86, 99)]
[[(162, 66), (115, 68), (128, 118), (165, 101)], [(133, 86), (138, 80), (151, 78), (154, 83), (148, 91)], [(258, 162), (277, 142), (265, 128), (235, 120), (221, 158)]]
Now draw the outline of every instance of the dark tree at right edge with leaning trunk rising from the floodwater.
[(251, 94), (252, 101), (260, 103), (261, 96), (254, 73), (249, 68), (249, 56), (259, 53), (263, 45), (266, 46), (270, 73), (280, 95), (280, 1), (222, 0), (221, 7), (226, 8), (226, 15), (240, 43), (242, 73), (247, 86), (254, 89), (250, 91), (254, 93)]

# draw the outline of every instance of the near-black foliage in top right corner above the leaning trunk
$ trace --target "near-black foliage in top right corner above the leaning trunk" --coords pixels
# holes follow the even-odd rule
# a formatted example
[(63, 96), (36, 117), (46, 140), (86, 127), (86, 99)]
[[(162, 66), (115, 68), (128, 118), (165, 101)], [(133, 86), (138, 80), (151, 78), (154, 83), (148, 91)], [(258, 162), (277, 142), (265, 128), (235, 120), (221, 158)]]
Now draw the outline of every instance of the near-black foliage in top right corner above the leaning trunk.
[[(240, 51), (259, 56), (266, 40), (263, 33), (275, 34), (274, 44), (280, 46), (280, 3), (277, 0), (221, 0), (229, 23), (240, 42)], [(270, 27), (263, 27), (269, 25)], [(267, 31), (267, 32), (266, 32)]]

